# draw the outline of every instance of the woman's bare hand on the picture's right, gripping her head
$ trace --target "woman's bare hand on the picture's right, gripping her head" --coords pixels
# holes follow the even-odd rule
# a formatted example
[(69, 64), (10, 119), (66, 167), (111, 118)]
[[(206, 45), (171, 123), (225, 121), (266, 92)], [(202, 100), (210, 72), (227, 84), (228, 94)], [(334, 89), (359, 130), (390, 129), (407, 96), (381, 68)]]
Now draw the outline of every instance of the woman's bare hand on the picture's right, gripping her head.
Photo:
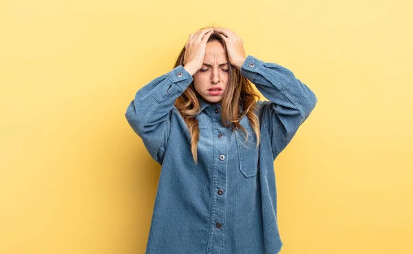
[(213, 28), (214, 31), (222, 34), (222, 38), (226, 44), (226, 50), (228, 52), (228, 58), (231, 65), (241, 69), (246, 59), (244, 41), (235, 34), (235, 32), (226, 28)]

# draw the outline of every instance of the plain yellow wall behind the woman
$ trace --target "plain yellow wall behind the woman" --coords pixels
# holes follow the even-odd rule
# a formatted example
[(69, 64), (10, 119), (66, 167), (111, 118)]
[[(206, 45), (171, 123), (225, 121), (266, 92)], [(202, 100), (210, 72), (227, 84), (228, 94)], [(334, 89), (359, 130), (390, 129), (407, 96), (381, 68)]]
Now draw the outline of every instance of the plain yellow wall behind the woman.
[(144, 253), (160, 166), (125, 110), (208, 25), (319, 99), (275, 161), (282, 253), (413, 253), (412, 8), (1, 0), (0, 253)]

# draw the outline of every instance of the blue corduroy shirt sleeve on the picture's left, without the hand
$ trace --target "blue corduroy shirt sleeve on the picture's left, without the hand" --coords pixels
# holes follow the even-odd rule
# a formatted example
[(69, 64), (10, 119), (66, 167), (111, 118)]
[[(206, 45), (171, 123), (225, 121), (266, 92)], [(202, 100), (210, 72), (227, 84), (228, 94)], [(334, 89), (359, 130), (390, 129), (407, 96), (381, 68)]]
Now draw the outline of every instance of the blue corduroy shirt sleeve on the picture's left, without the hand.
[(192, 81), (191, 74), (179, 65), (140, 88), (127, 107), (125, 116), (129, 125), (160, 165), (169, 140), (175, 100)]

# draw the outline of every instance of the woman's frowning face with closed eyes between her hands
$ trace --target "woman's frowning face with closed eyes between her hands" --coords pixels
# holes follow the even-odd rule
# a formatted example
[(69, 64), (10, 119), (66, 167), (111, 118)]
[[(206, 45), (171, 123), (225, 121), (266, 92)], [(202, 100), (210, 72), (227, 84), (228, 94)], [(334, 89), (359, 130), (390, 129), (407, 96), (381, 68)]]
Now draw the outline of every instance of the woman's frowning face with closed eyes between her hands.
[(204, 65), (193, 75), (193, 86), (204, 100), (210, 103), (222, 100), (229, 79), (228, 67), (226, 52), (221, 43), (207, 43)]

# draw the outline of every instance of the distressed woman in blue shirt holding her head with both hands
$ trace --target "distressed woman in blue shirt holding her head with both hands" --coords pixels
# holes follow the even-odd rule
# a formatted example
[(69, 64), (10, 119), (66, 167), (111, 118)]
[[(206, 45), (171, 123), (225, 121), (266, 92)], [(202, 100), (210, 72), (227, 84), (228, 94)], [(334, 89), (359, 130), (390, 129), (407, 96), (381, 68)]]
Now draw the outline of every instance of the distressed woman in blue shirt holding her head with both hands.
[(191, 34), (126, 112), (162, 165), (146, 253), (279, 253), (273, 162), (316, 103), (293, 72), (246, 56), (235, 32)]

